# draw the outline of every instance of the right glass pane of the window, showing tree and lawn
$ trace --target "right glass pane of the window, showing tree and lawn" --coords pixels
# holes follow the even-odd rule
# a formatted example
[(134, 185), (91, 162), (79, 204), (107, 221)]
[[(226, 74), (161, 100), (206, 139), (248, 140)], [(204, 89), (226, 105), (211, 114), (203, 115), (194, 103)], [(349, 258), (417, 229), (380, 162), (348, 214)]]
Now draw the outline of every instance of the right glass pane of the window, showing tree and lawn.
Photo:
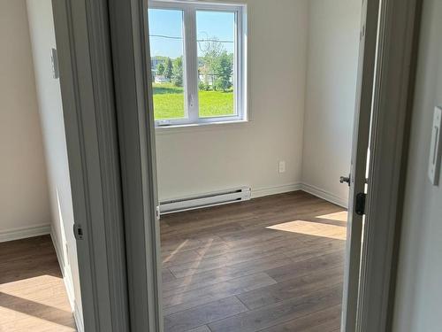
[(235, 13), (196, 12), (201, 118), (236, 115)]

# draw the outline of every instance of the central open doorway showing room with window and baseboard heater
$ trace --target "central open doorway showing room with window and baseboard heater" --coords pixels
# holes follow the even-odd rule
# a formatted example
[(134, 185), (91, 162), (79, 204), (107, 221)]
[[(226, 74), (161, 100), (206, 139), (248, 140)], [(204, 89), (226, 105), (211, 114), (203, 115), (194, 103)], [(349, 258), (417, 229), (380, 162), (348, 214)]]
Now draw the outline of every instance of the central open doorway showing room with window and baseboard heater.
[(165, 331), (340, 329), (361, 13), (149, 2)]

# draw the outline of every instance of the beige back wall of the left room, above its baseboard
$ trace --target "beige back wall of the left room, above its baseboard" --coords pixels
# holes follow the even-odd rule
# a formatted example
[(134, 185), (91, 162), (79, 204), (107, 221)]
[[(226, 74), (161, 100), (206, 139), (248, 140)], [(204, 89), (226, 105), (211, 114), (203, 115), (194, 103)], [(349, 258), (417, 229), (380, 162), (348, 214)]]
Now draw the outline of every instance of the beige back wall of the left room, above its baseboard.
[(0, 0), (0, 241), (45, 233), (50, 203), (25, 0)]

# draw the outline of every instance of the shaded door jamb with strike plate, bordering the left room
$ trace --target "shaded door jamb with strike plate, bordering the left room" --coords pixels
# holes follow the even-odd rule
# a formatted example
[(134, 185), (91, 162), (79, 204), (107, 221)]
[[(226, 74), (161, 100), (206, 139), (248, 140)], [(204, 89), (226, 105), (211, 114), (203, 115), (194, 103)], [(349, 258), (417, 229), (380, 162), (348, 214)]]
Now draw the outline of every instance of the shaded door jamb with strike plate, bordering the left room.
[[(129, 331), (117, 127), (106, 0), (53, 0), (87, 332)], [(66, 229), (66, 231), (73, 231)]]

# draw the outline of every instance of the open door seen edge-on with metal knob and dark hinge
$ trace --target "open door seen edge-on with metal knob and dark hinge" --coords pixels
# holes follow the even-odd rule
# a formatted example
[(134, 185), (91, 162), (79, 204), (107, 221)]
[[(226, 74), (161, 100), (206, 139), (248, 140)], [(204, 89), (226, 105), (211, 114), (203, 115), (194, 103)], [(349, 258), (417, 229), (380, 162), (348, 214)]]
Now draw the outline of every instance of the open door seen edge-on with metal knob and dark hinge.
[(349, 182), (350, 195), (347, 222), (347, 259), (344, 275), (341, 331), (356, 328), (363, 209), (366, 197), (367, 158), (370, 142), (370, 118), (376, 67), (377, 21), (379, 1), (362, 0), (361, 42), (354, 114), (352, 162)]

